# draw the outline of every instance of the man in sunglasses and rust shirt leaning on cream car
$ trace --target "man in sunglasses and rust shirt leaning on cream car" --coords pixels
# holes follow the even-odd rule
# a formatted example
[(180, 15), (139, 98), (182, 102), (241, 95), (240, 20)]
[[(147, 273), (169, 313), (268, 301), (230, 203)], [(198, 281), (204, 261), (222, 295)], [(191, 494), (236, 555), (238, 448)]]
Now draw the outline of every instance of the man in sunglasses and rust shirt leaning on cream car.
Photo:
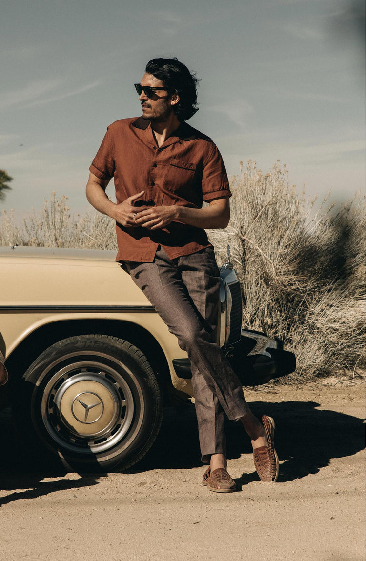
[[(107, 129), (90, 166), (86, 196), (116, 220), (117, 261), (161, 315), (191, 361), (202, 461), (202, 483), (235, 491), (226, 467), (224, 413), (243, 422), (262, 481), (276, 481), (274, 422), (263, 424), (216, 343), (219, 272), (204, 228), (225, 228), (231, 196), (211, 139), (185, 121), (197, 111), (194, 75), (176, 58), (148, 63), (135, 84), (142, 116)], [(114, 177), (117, 203), (106, 195)], [(208, 206), (202, 208), (203, 201)]]

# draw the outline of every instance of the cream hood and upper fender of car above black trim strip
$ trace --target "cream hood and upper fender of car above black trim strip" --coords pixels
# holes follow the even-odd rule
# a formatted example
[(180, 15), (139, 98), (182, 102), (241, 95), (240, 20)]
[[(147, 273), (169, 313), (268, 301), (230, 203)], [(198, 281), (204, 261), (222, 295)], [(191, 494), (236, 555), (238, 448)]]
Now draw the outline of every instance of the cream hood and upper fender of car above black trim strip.
[(148, 305), (115, 255), (104, 250), (3, 247), (0, 306)]

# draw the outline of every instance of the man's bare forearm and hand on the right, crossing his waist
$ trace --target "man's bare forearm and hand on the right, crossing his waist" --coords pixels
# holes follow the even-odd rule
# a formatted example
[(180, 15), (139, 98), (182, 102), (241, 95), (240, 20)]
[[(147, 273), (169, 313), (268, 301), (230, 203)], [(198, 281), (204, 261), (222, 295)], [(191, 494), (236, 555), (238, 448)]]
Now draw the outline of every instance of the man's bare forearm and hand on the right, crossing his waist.
[(186, 206), (154, 206), (139, 211), (134, 217), (135, 224), (158, 230), (171, 222), (182, 222), (196, 228), (226, 228), (230, 220), (230, 201), (228, 197), (214, 199), (203, 209), (191, 209)]

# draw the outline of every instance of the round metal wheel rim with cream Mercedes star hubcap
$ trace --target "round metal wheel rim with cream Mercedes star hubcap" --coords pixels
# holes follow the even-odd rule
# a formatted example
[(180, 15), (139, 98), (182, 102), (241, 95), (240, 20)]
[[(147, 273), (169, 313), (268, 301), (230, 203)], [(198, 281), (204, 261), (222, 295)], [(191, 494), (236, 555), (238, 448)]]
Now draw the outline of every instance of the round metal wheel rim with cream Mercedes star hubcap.
[[(125, 369), (126, 373), (129, 370)], [(88, 361), (53, 374), (42, 397), (49, 435), (70, 452), (100, 453), (123, 438), (135, 404), (126, 380), (113, 368)]]

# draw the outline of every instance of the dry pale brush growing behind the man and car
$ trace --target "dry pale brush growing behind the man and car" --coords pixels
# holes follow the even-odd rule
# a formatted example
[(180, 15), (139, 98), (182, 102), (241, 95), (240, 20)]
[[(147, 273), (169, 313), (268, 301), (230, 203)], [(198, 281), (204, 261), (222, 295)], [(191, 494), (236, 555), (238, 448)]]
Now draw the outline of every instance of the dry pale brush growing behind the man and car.
[[(314, 210), (276, 163), (262, 174), (249, 160), (232, 178), (230, 225), (209, 231), (218, 262), (227, 245), (243, 285), (244, 325), (277, 334), (294, 350), (290, 381), (359, 373), (364, 366), (364, 203)], [(70, 215), (67, 197), (52, 195), (20, 227), (3, 213), (0, 245), (116, 249), (115, 225), (90, 212)], [(287, 379), (286, 381), (289, 381)]]

